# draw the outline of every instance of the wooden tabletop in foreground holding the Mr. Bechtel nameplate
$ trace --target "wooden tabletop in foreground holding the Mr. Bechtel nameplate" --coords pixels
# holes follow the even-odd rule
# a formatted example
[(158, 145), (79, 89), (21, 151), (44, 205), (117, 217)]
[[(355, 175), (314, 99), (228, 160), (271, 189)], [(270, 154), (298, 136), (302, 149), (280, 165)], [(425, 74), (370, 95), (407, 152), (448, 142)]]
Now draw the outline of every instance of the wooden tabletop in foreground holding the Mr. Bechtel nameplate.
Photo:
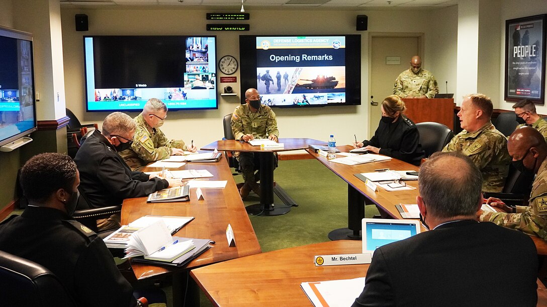
[[(360, 252), (361, 241), (336, 240), (237, 258), (193, 269), (190, 275), (214, 306), (309, 307), (302, 282), (364, 277), (369, 268), (369, 264), (316, 267), (314, 256)], [(539, 280), (538, 306), (547, 306), (547, 289)]]

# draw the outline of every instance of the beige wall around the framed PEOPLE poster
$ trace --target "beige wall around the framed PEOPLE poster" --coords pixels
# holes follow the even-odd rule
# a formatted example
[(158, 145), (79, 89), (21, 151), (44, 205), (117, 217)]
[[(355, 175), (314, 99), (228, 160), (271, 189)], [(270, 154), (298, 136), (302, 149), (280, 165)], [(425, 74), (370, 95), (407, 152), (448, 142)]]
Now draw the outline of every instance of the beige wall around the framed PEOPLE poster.
[[(505, 20), (515, 19), (526, 16), (533, 16), (539, 14), (547, 14), (547, 1), (546, 0), (526, 0), (526, 1), (514, 1), (503, 0), (501, 5), (501, 14), (499, 18), (500, 29), (500, 44), (499, 44), (499, 96), (498, 101), (499, 109), (513, 110), (511, 106), (514, 102), (505, 102), (504, 100), (504, 84), (505, 84)], [(545, 42), (544, 42), (545, 44)], [(544, 51), (545, 52), (545, 51)], [(545, 65), (545, 63), (542, 63)], [(543, 78), (547, 78), (546, 75)], [(545, 103), (545, 101), (544, 101)], [(538, 114), (547, 115), (547, 105), (537, 105), (536, 109)]]

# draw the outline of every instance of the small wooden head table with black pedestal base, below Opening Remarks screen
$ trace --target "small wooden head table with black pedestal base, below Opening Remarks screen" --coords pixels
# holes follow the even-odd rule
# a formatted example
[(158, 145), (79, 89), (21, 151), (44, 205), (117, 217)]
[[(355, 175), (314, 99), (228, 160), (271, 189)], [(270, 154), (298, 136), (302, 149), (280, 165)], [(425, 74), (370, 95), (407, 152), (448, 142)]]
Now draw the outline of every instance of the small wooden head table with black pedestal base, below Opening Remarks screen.
[[(274, 154), (281, 151), (307, 149), (309, 145), (326, 145), (324, 141), (307, 138), (281, 138), (278, 143), (283, 147), (261, 148), (238, 140), (219, 140), (201, 147), (201, 150), (258, 152), (260, 159), (260, 203), (247, 206), (248, 214), (260, 216), (275, 216), (286, 214), (290, 211), (290, 205), (274, 205)], [(284, 203), (289, 197), (277, 187), (277, 194)], [(295, 204), (294, 204), (295, 205)]]

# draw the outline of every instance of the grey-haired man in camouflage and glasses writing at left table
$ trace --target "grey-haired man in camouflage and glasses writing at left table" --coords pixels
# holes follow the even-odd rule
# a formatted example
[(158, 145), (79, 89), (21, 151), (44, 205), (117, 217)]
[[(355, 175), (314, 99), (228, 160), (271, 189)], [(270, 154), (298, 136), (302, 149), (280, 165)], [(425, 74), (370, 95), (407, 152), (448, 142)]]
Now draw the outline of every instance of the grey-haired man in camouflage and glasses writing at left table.
[(183, 151), (197, 151), (192, 144), (183, 140), (168, 140), (160, 130), (167, 118), (167, 105), (158, 98), (150, 98), (141, 114), (135, 117), (137, 129), (130, 149), (119, 152), (131, 170), (141, 170), (146, 164), (172, 155), (182, 155)]

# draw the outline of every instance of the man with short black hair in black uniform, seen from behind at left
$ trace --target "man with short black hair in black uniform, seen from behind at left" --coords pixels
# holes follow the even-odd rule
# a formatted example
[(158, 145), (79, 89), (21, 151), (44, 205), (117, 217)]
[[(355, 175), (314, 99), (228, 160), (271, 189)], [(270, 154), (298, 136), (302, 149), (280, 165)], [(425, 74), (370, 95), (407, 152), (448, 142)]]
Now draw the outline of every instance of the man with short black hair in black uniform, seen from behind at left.
[(76, 164), (66, 155), (28, 160), (21, 185), (29, 205), (0, 225), (0, 250), (52, 271), (75, 306), (136, 306), (131, 285), (102, 239), (72, 220), (79, 183)]

